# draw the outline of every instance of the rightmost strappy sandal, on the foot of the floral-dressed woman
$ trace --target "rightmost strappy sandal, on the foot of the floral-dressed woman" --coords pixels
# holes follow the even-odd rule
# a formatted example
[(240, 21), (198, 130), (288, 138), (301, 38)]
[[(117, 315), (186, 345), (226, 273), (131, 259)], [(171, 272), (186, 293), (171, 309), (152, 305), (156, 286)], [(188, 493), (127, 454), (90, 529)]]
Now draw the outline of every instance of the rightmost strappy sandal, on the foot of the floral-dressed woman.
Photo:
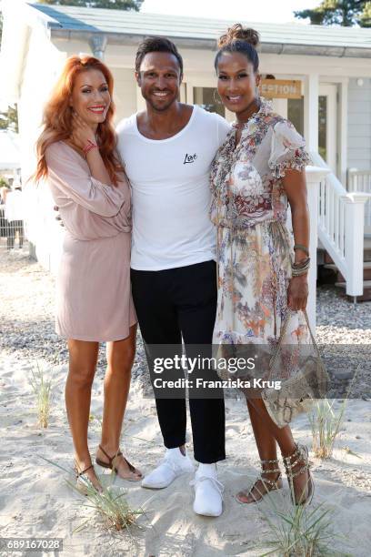
[[(315, 492), (315, 483), (313, 481), (312, 472), (310, 471), (310, 462), (308, 456), (308, 450), (305, 445), (300, 445), (296, 443), (295, 451), (288, 457), (282, 457), (284, 461), (286, 476), (288, 485), (290, 486), (290, 496), (293, 505), (307, 505), (309, 504)], [(303, 490), (298, 501), (296, 501), (296, 494), (294, 490), (294, 480), (297, 476), (304, 473), (308, 474), (308, 480), (306, 482), (306, 488)], [(305, 491), (307, 490), (307, 496), (304, 499)]]

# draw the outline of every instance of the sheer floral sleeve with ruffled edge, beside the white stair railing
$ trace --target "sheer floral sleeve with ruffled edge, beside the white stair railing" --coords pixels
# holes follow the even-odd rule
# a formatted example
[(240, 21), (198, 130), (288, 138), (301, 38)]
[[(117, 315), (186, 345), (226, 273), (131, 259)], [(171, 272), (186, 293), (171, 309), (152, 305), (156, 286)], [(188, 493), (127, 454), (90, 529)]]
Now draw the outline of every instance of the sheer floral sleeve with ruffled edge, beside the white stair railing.
[(306, 142), (288, 120), (276, 123), (272, 133), (268, 165), (276, 178), (284, 177), (286, 169), (303, 170), (310, 164)]

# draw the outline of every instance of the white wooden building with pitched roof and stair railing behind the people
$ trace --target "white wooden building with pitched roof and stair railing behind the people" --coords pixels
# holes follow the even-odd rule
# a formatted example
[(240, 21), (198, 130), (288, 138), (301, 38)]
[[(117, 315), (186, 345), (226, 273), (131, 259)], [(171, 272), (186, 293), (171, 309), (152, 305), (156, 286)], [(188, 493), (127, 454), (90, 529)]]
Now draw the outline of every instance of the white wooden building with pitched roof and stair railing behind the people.
[[(3, 4), (1, 96), (18, 103), (24, 175), (35, 167), (32, 146), (45, 99), (65, 58), (73, 54), (93, 53), (111, 68), (118, 121), (143, 107), (134, 78), (136, 47), (145, 36), (167, 36), (184, 58), (182, 100), (232, 119), (214, 100), (214, 58), (216, 38), (235, 21), (19, 0)], [(367, 203), (371, 192), (371, 29), (259, 24), (248, 21), (246, 14), (241, 23), (255, 27), (261, 35), (262, 74), (300, 81), (299, 98), (276, 98), (274, 105), (306, 137), (316, 167), (327, 167), (327, 172), (310, 178), (313, 183), (320, 180), (312, 201), (312, 249), (316, 251), (318, 238), (341, 271), (347, 294), (361, 296), (364, 236), (371, 232), (371, 203)], [(39, 244), (39, 258), (53, 267), (55, 250), (45, 243), (42, 248), (43, 242), (36, 238), (41, 234), (37, 232), (40, 222), (46, 226), (48, 218), (44, 215), (37, 224), (30, 223), (28, 233)]]

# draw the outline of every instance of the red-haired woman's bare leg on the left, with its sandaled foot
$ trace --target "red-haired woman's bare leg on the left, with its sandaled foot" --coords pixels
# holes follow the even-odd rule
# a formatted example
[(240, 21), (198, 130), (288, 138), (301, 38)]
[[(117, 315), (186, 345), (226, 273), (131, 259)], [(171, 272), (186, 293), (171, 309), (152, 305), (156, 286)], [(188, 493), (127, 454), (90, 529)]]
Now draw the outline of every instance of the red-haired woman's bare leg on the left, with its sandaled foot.
[[(65, 382), (65, 408), (78, 471), (85, 470), (92, 463), (87, 445), (87, 428), (98, 349), (98, 342), (68, 339), (69, 371)], [(100, 487), (93, 469), (86, 471), (85, 475), (95, 487)]]

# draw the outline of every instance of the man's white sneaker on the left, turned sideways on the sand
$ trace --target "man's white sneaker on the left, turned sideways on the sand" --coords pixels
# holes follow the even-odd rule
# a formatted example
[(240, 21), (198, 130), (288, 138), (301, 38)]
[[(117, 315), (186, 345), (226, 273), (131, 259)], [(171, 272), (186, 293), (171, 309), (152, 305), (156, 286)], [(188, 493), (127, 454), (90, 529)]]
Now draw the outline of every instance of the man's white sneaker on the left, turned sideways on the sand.
[(195, 470), (189, 456), (180, 449), (166, 449), (165, 457), (155, 470), (142, 480), (142, 487), (160, 490), (170, 485), (178, 476)]

